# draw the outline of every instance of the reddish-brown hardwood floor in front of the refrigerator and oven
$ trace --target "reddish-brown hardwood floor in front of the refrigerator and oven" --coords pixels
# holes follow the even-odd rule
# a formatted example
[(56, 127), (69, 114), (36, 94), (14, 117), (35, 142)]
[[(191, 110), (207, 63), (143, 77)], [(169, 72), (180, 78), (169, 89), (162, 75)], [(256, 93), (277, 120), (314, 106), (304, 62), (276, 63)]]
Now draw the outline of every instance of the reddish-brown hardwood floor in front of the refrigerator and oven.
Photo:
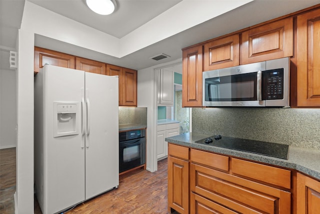
[[(35, 205), (35, 214), (41, 213)], [(119, 177), (119, 187), (85, 201), (67, 214), (167, 213), (167, 159), (158, 161), (158, 170), (135, 170)]]

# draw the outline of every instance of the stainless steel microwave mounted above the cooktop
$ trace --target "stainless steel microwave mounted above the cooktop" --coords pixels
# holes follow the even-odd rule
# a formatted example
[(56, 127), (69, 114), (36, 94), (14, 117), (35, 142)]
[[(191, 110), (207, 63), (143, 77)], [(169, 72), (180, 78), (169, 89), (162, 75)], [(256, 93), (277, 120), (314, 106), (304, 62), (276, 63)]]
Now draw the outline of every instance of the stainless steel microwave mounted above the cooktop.
[(202, 106), (289, 106), (290, 58), (202, 72)]

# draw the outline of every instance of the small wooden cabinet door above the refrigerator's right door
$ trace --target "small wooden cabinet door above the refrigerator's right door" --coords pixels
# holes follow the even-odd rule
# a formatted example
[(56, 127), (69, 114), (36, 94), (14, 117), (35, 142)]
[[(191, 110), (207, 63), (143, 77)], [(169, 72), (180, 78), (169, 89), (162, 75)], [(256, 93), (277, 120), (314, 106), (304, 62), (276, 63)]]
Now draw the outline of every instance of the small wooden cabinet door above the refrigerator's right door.
[(95, 74), (106, 74), (105, 63), (89, 60), (81, 57), (75, 57), (75, 69), (95, 73)]

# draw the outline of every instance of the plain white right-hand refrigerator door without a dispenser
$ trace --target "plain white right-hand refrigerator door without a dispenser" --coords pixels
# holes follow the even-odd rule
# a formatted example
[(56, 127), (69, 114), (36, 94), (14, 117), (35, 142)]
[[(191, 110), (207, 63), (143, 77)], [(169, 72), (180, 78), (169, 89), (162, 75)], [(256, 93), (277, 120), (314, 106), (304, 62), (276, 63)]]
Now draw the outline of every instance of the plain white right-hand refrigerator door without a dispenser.
[(85, 199), (119, 184), (118, 78), (85, 73)]

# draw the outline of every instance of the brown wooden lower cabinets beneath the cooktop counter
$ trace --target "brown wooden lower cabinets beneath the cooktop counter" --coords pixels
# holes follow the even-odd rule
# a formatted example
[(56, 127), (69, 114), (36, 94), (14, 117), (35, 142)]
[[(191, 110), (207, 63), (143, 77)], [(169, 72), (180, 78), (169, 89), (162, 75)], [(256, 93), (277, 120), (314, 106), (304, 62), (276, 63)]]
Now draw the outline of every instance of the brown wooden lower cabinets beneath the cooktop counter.
[(320, 181), (293, 169), (168, 143), (169, 212), (318, 214), (319, 204)]

